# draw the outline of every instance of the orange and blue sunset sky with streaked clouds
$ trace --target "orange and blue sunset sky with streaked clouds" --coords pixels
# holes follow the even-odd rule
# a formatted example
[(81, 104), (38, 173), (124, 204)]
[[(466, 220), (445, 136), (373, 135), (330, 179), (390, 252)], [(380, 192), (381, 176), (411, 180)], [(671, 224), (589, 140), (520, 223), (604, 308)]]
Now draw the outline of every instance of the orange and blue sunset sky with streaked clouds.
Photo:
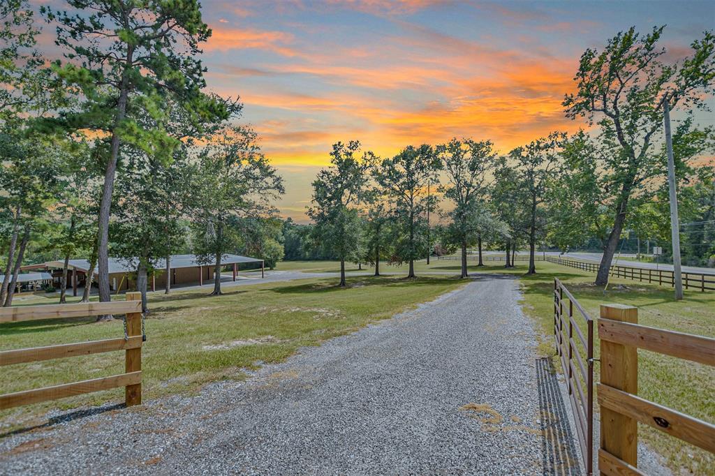
[(561, 101), (584, 49), (666, 24), (676, 58), (715, 27), (714, 1), (203, 0), (202, 11), (208, 89), (240, 96), (242, 123), (285, 177), (280, 212), (298, 221), (333, 142), (387, 155), (473, 137), (508, 152), (583, 126)]

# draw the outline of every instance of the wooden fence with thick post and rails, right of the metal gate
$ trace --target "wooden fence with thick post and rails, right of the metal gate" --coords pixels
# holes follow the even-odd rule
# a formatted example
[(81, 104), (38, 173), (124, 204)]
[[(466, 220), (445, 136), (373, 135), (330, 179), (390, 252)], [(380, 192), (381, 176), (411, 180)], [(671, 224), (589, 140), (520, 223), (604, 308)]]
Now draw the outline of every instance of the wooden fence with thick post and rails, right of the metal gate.
[(601, 448), (606, 475), (642, 475), (638, 470), (638, 422), (715, 453), (715, 425), (638, 397), (638, 349), (715, 367), (715, 339), (638, 324), (638, 309), (601, 305)]

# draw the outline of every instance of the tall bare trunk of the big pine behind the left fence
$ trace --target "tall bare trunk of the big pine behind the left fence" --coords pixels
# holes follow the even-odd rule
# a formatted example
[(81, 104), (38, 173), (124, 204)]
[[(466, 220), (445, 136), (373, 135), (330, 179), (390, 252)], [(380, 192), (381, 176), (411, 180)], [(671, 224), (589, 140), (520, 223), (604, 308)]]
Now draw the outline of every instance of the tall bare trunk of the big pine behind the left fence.
[[(117, 101), (117, 116), (114, 117), (112, 127), (112, 148), (110, 149), (107, 168), (104, 170), (104, 185), (102, 186), (102, 201), (99, 202), (99, 220), (97, 222), (97, 264), (99, 277), (99, 302), (112, 300), (109, 292), (109, 212), (112, 208), (112, 193), (114, 192), (114, 175), (117, 173), (117, 157), (119, 157), (119, 127), (127, 113), (127, 100), (129, 98), (129, 67), (134, 56), (134, 46), (127, 47), (127, 61), (123, 73), (122, 84), (119, 86), (119, 100)], [(99, 316), (102, 320), (112, 319), (111, 315)]]

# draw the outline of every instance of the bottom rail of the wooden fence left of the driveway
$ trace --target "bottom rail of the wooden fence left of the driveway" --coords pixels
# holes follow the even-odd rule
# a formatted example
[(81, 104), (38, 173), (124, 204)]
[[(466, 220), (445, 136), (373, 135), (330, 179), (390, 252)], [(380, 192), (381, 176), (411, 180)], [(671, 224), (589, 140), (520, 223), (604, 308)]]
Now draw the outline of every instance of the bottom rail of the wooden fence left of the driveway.
[(0, 410), (19, 407), (21, 405), (30, 405), (31, 403), (46, 402), (47, 400), (56, 400), (58, 398), (72, 397), (73, 395), (99, 392), (99, 390), (135, 385), (138, 382), (142, 382), (142, 372), (112, 375), (112, 377), (102, 377), (71, 384), (55, 385), (54, 387), (8, 393), (6, 395), (0, 395)]

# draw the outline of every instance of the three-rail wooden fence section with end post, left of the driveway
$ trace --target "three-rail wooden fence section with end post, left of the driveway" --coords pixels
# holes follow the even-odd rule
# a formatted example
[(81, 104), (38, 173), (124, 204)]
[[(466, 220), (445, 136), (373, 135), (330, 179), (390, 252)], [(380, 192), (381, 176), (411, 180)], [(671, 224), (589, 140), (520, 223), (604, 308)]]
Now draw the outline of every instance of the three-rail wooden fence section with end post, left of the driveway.
[(126, 301), (88, 302), (79, 304), (52, 304), (46, 306), (6, 307), (0, 309), (0, 324), (36, 319), (99, 316), (103, 314), (126, 314), (126, 332), (117, 339), (59, 344), (30, 349), (13, 349), (0, 352), (0, 367), (39, 362), (62, 357), (79, 357), (124, 350), (124, 374), (101, 377), (82, 382), (72, 382), (53, 387), (0, 395), (0, 410), (46, 402), (59, 398), (99, 392), (116, 387), (124, 387), (124, 401), (127, 406), (142, 403), (142, 294), (127, 292)]

